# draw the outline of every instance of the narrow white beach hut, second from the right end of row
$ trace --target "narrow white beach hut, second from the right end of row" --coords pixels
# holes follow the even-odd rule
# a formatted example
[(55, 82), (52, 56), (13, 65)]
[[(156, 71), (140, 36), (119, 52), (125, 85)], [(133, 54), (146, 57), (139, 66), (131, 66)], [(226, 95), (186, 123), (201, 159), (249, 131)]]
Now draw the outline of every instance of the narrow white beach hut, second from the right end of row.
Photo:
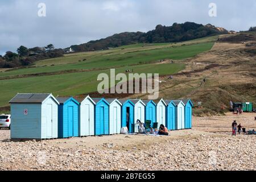
[(175, 121), (177, 130), (185, 129), (185, 104), (182, 101), (173, 101), (175, 104)]

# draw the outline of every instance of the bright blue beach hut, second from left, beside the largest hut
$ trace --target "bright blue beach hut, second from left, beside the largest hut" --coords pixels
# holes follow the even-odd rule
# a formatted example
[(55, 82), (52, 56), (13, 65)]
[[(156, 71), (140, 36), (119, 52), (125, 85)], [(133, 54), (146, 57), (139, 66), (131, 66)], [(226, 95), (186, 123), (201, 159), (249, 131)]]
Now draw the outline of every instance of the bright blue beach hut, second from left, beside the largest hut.
[(59, 101), (59, 138), (79, 137), (79, 102), (73, 97), (57, 97)]

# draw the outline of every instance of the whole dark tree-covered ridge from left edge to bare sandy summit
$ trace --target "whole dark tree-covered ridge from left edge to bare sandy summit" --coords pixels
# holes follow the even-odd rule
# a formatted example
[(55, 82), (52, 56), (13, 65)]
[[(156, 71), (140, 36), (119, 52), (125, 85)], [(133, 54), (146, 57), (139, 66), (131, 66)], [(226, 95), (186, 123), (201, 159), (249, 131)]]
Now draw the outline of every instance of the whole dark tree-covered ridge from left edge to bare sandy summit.
[(158, 25), (155, 30), (148, 31), (147, 33), (123, 32), (121, 34), (114, 34), (105, 39), (92, 40), (88, 43), (65, 49), (55, 49), (53, 44), (34, 48), (20, 46), (17, 49), (17, 53), (7, 51), (4, 56), (0, 55), (0, 68), (27, 67), (39, 60), (63, 57), (64, 53), (108, 50), (138, 43), (175, 43), (220, 34), (228, 34), (228, 31), (211, 24), (203, 26), (203, 24), (185, 22), (181, 24), (174, 23), (170, 27)]

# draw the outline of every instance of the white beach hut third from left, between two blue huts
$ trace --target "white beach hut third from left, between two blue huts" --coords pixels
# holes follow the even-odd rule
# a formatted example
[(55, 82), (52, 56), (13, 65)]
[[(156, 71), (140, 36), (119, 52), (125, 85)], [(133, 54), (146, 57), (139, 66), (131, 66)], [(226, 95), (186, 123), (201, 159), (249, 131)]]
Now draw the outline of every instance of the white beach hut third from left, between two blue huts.
[(80, 110), (79, 110), (79, 136), (93, 136), (95, 134), (94, 130), (94, 110), (96, 103), (87, 96), (85, 98), (76, 98), (77, 101), (80, 103)]

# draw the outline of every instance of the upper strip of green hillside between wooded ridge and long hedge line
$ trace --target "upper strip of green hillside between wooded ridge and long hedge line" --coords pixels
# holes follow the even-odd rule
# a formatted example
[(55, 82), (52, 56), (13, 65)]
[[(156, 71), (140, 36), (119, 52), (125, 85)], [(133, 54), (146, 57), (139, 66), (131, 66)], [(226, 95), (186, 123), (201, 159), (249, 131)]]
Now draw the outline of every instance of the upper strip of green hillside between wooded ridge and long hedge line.
[[(188, 45), (187, 45), (188, 44)], [(134, 64), (152, 63), (160, 59), (183, 60), (208, 51), (214, 42), (184, 43), (185, 46), (153, 46), (150, 48), (128, 48), (114, 51), (76, 53), (65, 57), (43, 60), (35, 68), (14, 69), (0, 73), (1, 77), (51, 73), (77, 69), (108, 69)], [(146, 49), (146, 50), (145, 50)], [(86, 60), (85, 60), (86, 59)], [(84, 60), (84, 61), (83, 61)]]

